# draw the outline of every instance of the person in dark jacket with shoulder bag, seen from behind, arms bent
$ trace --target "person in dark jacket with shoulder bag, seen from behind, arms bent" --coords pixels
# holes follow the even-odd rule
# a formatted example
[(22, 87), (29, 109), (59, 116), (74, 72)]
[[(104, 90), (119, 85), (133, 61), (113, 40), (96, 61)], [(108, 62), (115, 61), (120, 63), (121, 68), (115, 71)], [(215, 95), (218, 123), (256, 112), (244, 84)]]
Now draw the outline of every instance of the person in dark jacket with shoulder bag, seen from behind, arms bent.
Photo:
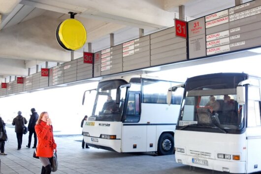
[(22, 140), (23, 140), (23, 127), (27, 124), (27, 120), (25, 117), (22, 116), (22, 112), (18, 111), (18, 115), (13, 119), (12, 125), (15, 126), (16, 138), (18, 147), (17, 150), (21, 149)]

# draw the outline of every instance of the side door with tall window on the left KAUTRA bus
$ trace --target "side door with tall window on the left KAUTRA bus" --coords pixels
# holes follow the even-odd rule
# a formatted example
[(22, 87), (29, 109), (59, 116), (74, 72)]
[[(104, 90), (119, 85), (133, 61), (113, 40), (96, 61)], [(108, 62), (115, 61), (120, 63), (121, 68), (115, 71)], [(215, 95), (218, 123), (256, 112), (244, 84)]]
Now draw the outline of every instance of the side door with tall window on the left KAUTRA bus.
[(139, 124), (140, 120), (140, 92), (129, 92), (126, 102), (123, 129), (122, 129), (122, 151), (123, 152), (145, 152), (147, 125)]

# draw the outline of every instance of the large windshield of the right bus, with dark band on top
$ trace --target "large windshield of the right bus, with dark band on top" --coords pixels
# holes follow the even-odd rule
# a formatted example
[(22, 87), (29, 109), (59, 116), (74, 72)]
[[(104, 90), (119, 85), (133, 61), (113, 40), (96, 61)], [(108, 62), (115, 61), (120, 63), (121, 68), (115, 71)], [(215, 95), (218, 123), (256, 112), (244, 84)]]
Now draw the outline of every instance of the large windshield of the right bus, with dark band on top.
[[(243, 106), (236, 101), (236, 86), (240, 76), (220, 76), (189, 79), (185, 86), (178, 129), (204, 128), (228, 133), (244, 126)], [(202, 129), (203, 128), (203, 129)]]

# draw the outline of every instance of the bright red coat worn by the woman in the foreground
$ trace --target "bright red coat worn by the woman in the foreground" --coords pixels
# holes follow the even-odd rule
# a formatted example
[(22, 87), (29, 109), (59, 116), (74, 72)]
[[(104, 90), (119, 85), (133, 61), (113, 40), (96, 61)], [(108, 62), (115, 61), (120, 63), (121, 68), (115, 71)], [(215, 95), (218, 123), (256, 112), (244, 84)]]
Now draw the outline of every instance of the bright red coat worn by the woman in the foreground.
[(54, 141), (53, 127), (41, 121), (35, 125), (35, 132), (38, 138), (36, 156), (50, 158), (53, 156), (56, 143)]

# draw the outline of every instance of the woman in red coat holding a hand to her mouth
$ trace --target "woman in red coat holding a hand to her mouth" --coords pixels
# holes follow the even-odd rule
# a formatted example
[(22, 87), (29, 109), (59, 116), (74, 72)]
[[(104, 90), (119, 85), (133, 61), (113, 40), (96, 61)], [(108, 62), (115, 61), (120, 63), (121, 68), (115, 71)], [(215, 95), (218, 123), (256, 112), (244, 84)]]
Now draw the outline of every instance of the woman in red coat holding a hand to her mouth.
[(42, 163), (41, 174), (51, 174), (51, 159), (56, 150), (54, 141), (52, 121), (47, 112), (42, 112), (36, 122), (35, 132), (38, 138), (36, 156)]

